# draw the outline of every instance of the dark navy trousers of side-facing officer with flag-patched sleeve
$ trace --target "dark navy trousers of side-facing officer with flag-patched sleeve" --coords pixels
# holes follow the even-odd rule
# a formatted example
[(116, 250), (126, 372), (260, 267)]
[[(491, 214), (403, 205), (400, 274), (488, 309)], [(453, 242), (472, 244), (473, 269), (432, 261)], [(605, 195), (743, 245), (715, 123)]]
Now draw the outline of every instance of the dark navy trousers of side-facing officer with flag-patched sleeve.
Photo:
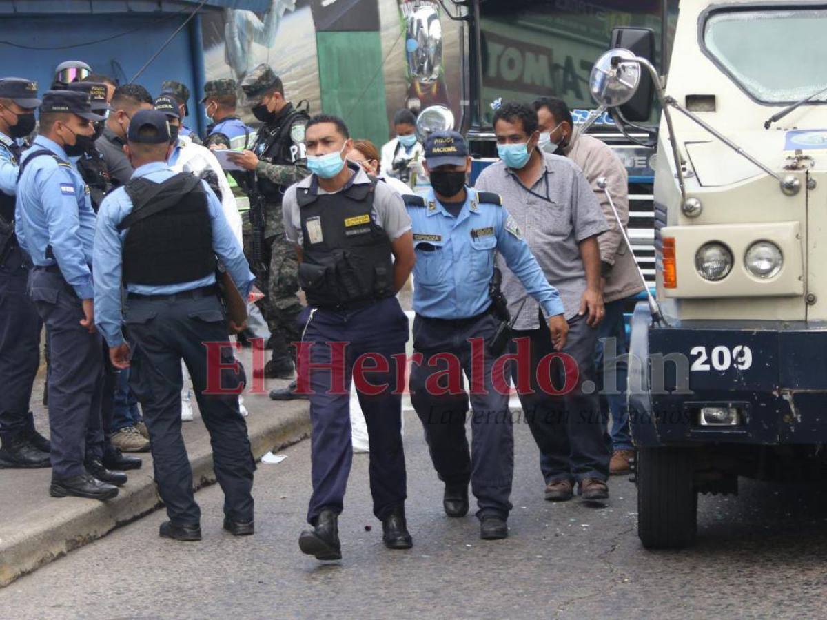
[(80, 299), (55, 267), (31, 269), (29, 297), (49, 339), (52, 476), (82, 475), (85, 460), (103, 457), (103, 341), (80, 325)]

